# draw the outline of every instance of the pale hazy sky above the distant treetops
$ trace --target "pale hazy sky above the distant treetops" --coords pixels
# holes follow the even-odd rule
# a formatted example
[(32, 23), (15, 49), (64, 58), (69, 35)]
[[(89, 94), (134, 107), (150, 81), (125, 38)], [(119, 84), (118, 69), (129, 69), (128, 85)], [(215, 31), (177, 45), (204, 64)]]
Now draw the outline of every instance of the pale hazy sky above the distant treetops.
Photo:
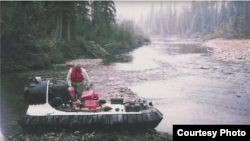
[(114, 0), (116, 6), (116, 14), (118, 19), (138, 20), (141, 16), (145, 17), (151, 11), (152, 5), (154, 9), (166, 9), (170, 3), (181, 9), (181, 6), (188, 4), (190, 0)]

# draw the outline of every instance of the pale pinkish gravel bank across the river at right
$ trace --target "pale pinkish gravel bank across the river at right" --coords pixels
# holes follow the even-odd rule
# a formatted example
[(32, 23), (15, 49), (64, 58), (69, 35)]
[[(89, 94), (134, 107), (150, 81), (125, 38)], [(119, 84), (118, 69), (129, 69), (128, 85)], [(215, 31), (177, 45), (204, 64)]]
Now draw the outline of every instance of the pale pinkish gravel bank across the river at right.
[(250, 63), (250, 40), (213, 39), (207, 41), (205, 46), (213, 50), (212, 59), (224, 63)]

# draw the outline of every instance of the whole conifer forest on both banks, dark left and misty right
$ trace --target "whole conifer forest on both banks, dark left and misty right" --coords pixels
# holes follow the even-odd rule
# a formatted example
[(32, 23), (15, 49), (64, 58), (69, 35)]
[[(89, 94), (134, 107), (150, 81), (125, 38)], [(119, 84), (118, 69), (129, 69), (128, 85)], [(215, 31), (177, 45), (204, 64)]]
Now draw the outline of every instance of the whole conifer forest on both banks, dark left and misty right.
[(181, 2), (161, 0), (158, 9), (152, 4), (135, 24), (117, 20), (113, 0), (0, 0), (0, 72), (103, 58), (93, 43), (115, 55), (149, 42), (147, 36), (250, 38), (249, 0)]

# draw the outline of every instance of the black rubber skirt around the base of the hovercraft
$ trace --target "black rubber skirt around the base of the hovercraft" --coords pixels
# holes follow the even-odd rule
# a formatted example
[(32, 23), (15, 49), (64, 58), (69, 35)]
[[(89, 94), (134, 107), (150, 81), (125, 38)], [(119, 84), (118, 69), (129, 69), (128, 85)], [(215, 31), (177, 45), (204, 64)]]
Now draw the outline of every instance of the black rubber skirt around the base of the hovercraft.
[(100, 115), (48, 115), (21, 116), (18, 124), (23, 128), (42, 127), (118, 127), (118, 128), (155, 128), (163, 119), (157, 109), (151, 107), (140, 114), (105, 114)]

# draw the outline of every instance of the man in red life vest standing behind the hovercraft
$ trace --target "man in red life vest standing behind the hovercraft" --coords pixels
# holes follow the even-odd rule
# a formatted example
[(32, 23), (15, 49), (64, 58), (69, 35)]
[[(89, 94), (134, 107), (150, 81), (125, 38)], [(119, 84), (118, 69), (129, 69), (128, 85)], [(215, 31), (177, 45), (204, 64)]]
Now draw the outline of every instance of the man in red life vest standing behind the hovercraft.
[(69, 90), (74, 87), (76, 91), (76, 97), (80, 98), (82, 92), (85, 90), (89, 90), (90, 80), (89, 76), (84, 68), (81, 68), (80, 64), (75, 64), (72, 68), (70, 68), (67, 75), (67, 83), (69, 85)]

